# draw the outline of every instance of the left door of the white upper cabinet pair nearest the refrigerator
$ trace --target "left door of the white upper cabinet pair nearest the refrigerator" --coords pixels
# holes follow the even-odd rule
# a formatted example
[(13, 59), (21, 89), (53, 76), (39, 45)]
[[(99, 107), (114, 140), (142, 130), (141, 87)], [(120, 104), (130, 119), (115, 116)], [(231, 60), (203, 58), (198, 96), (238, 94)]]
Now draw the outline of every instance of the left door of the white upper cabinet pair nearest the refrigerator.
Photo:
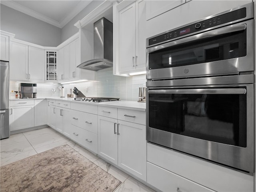
[(28, 46), (10, 42), (10, 80), (28, 80)]

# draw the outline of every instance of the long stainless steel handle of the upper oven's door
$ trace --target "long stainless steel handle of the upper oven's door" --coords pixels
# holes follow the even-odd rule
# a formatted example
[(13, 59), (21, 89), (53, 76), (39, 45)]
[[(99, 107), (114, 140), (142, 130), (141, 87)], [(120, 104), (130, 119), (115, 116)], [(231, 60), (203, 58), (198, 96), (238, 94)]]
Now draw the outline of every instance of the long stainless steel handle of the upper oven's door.
[(237, 31), (242, 31), (246, 29), (246, 24), (236, 24), (236, 25), (230, 25), (230, 26), (226, 26), (226, 27), (222, 27), (216, 30), (212, 30), (212, 31), (208, 31), (208, 32), (203, 32), (200, 34), (196, 34), (193, 36), (189, 36), (186, 38), (182, 38), (182, 39), (178, 39), (178, 40), (174, 40), (171, 42), (166, 42), (165, 44), (161, 44), (161, 45), (157, 45), (151, 48), (147, 48), (148, 53), (150, 52), (154, 52), (166, 47), (171, 47), (174, 45), (178, 45), (178, 44), (182, 44), (182, 43), (187, 43), (190, 41), (194, 41), (194, 40), (200, 40), (203, 38), (209, 38), (209, 37), (214, 37), (214, 36), (218, 36), (218, 35), (222, 35), (222, 34), (228, 34), (228, 33), (232, 33), (232, 32), (237, 32)]

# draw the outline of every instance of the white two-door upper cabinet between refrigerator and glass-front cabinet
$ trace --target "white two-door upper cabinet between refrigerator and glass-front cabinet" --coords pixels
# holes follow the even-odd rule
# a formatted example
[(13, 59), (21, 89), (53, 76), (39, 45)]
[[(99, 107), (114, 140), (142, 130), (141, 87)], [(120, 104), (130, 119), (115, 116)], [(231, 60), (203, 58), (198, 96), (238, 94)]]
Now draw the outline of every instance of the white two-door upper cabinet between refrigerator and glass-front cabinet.
[(44, 81), (44, 50), (10, 42), (10, 80)]

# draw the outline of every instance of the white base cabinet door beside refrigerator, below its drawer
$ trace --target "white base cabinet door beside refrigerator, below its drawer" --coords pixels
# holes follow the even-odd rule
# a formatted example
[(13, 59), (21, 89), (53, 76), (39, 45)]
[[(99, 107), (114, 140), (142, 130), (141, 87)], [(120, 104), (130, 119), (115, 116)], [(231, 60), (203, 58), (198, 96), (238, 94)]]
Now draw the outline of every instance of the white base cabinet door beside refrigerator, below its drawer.
[(34, 105), (16, 106), (10, 112), (10, 130), (34, 127)]

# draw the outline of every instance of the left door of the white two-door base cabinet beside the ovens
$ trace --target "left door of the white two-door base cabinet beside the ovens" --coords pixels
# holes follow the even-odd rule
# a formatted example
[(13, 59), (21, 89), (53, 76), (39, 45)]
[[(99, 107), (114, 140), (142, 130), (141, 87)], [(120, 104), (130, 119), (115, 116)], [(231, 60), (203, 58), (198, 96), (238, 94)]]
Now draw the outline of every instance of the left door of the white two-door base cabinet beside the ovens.
[(98, 154), (117, 165), (117, 120), (98, 116)]

